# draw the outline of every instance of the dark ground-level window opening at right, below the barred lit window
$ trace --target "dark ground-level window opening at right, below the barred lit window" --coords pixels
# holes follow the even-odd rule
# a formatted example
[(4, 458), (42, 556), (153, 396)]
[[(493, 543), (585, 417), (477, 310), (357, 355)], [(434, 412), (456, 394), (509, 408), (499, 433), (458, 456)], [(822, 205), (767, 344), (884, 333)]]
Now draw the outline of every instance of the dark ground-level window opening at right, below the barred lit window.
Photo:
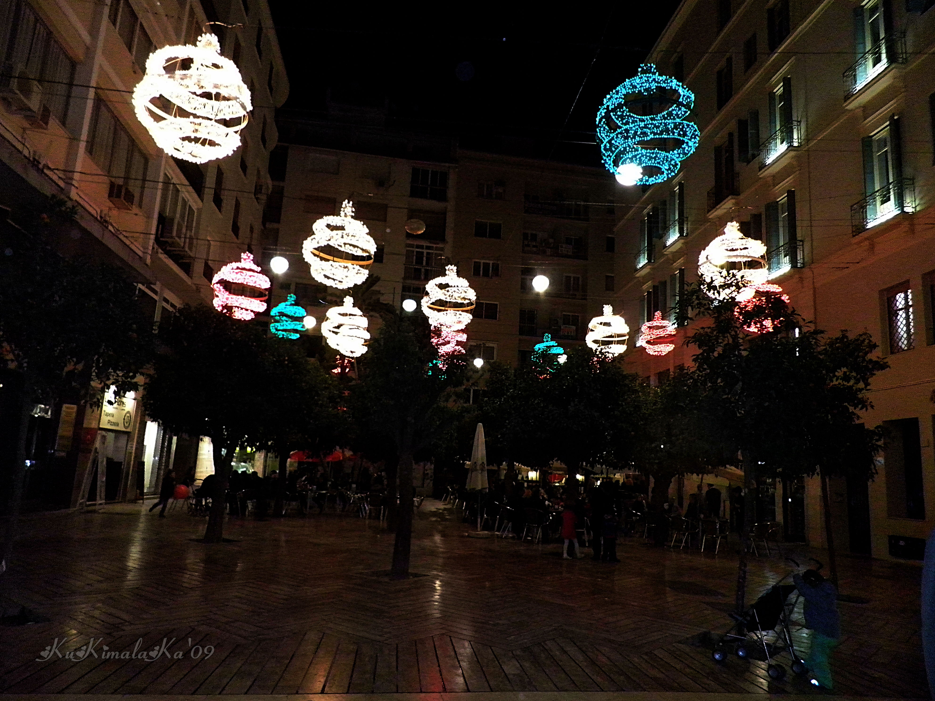
[(883, 422), (886, 511), (894, 519), (925, 519), (919, 420)]

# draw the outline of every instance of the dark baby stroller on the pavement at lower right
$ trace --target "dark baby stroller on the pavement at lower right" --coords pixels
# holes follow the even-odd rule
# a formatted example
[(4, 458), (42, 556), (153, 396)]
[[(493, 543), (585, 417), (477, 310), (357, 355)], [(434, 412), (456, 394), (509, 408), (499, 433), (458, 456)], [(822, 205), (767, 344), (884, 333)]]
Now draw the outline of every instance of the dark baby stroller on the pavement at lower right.
[[(798, 568), (798, 563), (786, 558)], [(791, 574), (791, 573), (790, 573)], [(750, 646), (762, 646), (766, 653), (767, 674), (770, 679), (781, 680), (785, 677), (785, 667), (774, 660), (783, 652), (788, 652), (792, 659), (792, 671), (804, 674), (807, 671), (805, 662), (799, 657), (792, 642), (792, 631), (789, 626), (792, 611), (798, 604), (798, 593), (789, 602), (789, 595), (796, 591), (795, 584), (783, 584), (786, 575), (773, 584), (769, 591), (762, 594), (753, 606), (747, 608), (742, 615), (731, 613), (734, 620), (733, 627), (717, 642), (711, 653), (716, 662), (726, 660), (730, 646), (738, 657), (746, 658), (750, 655)], [(775, 637), (772, 636), (775, 635)], [(771, 639), (770, 639), (771, 638)]]

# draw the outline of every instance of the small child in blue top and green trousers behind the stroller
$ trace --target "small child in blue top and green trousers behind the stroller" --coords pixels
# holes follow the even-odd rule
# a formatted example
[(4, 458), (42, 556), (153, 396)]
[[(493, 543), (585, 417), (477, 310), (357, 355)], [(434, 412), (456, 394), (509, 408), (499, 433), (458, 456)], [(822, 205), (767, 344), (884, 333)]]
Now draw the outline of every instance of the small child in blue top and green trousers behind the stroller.
[(801, 574), (797, 572), (792, 580), (805, 599), (805, 627), (813, 630), (812, 650), (805, 660), (810, 680), (815, 686), (833, 689), (828, 655), (838, 647), (841, 639), (838, 593), (834, 584), (822, 577), (817, 569), (807, 569)]

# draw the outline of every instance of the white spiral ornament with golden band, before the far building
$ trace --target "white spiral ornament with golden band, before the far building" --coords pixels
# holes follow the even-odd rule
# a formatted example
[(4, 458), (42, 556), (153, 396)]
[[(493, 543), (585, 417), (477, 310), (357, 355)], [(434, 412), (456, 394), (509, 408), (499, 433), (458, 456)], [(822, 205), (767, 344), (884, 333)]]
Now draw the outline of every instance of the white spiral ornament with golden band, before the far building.
[(329, 214), (311, 225), (312, 235), (302, 244), (302, 256), (311, 277), (323, 285), (346, 290), (367, 279), (377, 244), (364, 222), (353, 218), (353, 203), (344, 200), (337, 217)]

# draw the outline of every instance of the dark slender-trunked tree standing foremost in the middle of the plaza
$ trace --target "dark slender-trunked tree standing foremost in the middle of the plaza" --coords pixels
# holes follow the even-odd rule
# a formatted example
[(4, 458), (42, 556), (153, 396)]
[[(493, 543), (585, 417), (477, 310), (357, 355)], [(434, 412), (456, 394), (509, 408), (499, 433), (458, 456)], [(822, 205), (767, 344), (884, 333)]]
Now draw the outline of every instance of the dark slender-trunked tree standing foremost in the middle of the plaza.
[[(359, 429), (381, 432), (396, 448), (399, 511), (393, 579), (409, 577), (413, 454), (453, 419), (453, 394), (463, 383), (464, 362), (450, 358), (442, 369), (434, 364), (437, 357), (424, 320), (413, 323), (395, 317), (383, 324), (359, 361), (361, 377), (350, 390)], [(391, 485), (387, 488), (388, 498), (394, 500)]]

